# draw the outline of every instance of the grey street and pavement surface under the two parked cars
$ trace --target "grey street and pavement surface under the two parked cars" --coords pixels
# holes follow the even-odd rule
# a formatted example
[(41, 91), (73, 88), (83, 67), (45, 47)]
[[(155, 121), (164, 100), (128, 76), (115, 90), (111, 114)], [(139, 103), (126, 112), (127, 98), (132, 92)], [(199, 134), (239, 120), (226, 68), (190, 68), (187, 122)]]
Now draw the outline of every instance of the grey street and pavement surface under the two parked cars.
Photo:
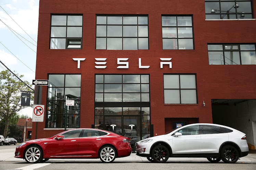
[(235, 164), (210, 163), (206, 158), (169, 158), (164, 164), (151, 163), (144, 157), (132, 153), (128, 157), (116, 158), (110, 164), (102, 163), (100, 159), (50, 159), (41, 164), (28, 164), (25, 160), (14, 158), (17, 145), (0, 146), (1, 170), (10, 169), (245, 169), (254, 170), (256, 153), (250, 152), (240, 158)]

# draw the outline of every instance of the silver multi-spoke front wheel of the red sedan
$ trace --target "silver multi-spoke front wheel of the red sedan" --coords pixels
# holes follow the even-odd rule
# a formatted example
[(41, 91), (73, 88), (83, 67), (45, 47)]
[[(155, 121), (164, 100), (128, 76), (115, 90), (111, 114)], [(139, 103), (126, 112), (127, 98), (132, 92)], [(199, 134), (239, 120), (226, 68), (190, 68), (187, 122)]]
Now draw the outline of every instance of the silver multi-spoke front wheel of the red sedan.
[(28, 163), (38, 163), (43, 158), (43, 151), (39, 146), (33, 145), (26, 148), (24, 159)]

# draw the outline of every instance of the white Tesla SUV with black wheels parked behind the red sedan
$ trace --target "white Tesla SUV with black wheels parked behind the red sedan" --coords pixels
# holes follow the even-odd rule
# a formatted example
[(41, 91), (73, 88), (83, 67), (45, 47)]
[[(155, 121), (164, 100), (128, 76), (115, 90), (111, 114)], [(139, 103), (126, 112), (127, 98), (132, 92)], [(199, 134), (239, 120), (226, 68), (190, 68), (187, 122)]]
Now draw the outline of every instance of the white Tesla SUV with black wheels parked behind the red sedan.
[(217, 124), (190, 124), (136, 143), (137, 155), (151, 162), (166, 162), (169, 157), (204, 157), (210, 162), (235, 163), (248, 155), (243, 132)]

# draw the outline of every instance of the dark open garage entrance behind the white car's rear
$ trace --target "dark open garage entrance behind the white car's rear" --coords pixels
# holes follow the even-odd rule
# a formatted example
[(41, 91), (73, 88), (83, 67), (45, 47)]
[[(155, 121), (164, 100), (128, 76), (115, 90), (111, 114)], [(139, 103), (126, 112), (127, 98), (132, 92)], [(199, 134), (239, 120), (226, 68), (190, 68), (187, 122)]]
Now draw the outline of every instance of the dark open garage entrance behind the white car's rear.
[(256, 146), (256, 100), (212, 99), (213, 123), (246, 133), (250, 150)]

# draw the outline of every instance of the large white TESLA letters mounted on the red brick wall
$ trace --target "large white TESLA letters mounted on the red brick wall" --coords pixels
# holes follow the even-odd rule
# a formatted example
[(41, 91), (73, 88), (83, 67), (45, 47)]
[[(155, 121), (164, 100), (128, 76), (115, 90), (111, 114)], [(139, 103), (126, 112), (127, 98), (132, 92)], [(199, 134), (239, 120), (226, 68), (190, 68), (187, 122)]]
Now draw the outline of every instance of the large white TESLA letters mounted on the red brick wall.
[[(72, 58), (74, 61), (77, 61), (77, 68), (80, 69), (80, 62), (84, 61), (86, 58)], [(106, 66), (106, 60), (107, 58), (94, 58), (95, 61), (95, 68), (97, 69), (105, 69)], [(118, 69), (128, 69), (129, 68), (129, 62), (127, 61), (129, 58), (117, 58), (117, 66)], [(171, 65), (171, 58), (160, 58), (160, 68), (163, 68), (163, 65), (169, 65), (169, 68), (172, 68)], [(148, 69), (150, 66), (142, 66), (141, 64), (141, 58), (139, 58), (139, 69)]]

